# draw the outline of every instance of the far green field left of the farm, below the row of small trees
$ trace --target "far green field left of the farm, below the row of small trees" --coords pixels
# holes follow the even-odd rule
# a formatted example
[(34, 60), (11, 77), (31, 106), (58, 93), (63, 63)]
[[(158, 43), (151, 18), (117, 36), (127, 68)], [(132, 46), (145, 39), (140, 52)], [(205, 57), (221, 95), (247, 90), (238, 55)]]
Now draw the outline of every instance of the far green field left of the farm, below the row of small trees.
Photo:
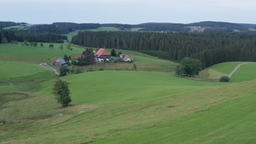
[[(40, 43), (38, 43), (39, 45)], [(73, 46), (73, 51), (66, 49), (66, 44), (63, 45), (63, 50), (59, 49), (61, 44), (54, 44), (53, 50), (49, 49), (49, 44), (44, 43), (44, 47), (22, 46), (21, 43), (15, 44), (0, 44), (0, 61), (16, 61), (27, 63), (43, 63), (54, 62), (57, 58), (63, 57), (65, 54), (74, 57), (82, 53), (83, 49)]]

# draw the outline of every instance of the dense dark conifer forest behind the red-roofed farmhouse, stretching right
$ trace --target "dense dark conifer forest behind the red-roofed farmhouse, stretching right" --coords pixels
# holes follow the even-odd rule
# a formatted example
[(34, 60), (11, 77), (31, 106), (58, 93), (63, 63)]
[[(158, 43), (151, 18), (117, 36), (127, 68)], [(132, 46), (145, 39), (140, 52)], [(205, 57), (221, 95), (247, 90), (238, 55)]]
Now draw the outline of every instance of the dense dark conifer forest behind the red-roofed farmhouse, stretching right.
[(181, 61), (200, 59), (202, 68), (229, 61), (256, 61), (256, 35), (238, 33), (79, 32), (72, 43), (146, 53)]

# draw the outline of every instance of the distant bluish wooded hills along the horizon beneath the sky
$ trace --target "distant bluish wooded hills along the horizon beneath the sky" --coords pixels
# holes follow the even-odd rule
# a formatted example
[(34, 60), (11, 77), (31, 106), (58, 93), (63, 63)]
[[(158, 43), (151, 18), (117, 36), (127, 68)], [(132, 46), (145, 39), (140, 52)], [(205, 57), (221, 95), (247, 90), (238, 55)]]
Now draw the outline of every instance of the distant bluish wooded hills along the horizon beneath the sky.
[[(26, 23), (0, 22), (0, 27), (10, 27)], [(31, 33), (56, 33), (68, 34), (70, 32), (82, 31), (85, 29), (97, 29), (100, 27), (115, 27), (121, 31), (130, 31), (132, 28), (139, 28), (139, 31), (146, 32), (175, 32), (175, 33), (255, 33), (256, 24), (230, 23), (216, 21), (202, 21), (195, 23), (141, 23), (138, 25), (120, 23), (72, 23), (54, 22), (50, 25), (35, 25), (28, 29)]]

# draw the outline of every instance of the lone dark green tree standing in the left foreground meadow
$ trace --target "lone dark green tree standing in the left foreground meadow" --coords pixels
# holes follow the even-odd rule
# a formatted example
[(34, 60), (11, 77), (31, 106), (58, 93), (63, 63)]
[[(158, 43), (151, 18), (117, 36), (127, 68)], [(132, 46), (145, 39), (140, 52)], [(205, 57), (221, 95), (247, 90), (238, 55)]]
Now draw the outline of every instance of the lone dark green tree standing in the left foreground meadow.
[(57, 80), (53, 87), (53, 94), (56, 95), (55, 99), (61, 104), (62, 107), (66, 107), (71, 103), (71, 93), (68, 89), (68, 82)]

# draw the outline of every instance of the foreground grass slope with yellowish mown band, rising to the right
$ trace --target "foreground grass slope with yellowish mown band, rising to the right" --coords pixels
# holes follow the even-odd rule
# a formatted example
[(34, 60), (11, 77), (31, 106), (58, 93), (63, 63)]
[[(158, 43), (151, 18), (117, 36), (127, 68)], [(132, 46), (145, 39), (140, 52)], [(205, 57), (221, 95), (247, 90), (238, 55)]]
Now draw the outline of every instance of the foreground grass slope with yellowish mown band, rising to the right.
[[(0, 136), (0, 141), (241, 143), (244, 140), (253, 143), (255, 86), (256, 81), (250, 81), (183, 92), (162, 99), (96, 104), (96, 109), (80, 113), (68, 121), (26, 133), (5, 133)], [(119, 92), (113, 92), (113, 95), (119, 97)]]

